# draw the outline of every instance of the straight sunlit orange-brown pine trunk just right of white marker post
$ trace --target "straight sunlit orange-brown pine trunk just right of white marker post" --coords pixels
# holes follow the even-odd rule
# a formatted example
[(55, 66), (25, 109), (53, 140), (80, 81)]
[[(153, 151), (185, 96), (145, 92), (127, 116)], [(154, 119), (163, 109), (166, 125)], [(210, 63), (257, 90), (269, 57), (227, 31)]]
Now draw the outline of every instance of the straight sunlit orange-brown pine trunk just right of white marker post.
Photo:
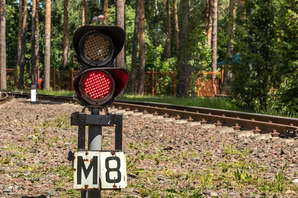
[(51, 0), (46, 0), (45, 14), (45, 44), (44, 44), (44, 89), (50, 90), (50, 61), (51, 61)]

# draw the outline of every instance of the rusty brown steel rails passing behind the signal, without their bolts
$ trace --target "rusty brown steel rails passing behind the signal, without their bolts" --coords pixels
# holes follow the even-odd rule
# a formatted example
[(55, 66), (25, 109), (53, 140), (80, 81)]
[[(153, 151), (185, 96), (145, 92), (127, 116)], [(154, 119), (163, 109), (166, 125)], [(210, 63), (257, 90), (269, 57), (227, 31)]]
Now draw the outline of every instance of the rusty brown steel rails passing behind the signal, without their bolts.
[[(11, 95), (16, 95), (20, 97), (29, 97), (29, 93), (18, 93), (18, 92), (7, 92)], [(76, 103), (77, 101), (73, 99), (72, 97), (64, 97), (64, 96), (50, 96), (50, 95), (42, 95), (38, 94), (36, 96), (38, 99), (44, 99), (44, 100), (55, 100), (55, 101), (64, 101), (64, 102), (72, 102)], [(120, 101), (120, 102), (119, 102)], [(139, 104), (142, 105), (139, 105)], [(208, 109), (208, 108), (202, 108), (202, 107), (191, 107), (191, 106), (183, 106), (183, 105), (169, 105), (169, 104), (163, 104), (163, 103), (153, 103), (153, 102), (138, 102), (138, 101), (122, 101), (117, 100), (113, 103), (115, 106), (121, 106), (122, 109), (138, 109), (139, 111), (147, 111), (148, 113), (154, 113), (158, 112), (159, 115), (167, 113), (170, 116), (175, 116), (179, 114), (181, 118), (189, 118), (192, 117), (194, 121), (201, 121), (202, 119), (205, 119), (208, 123), (216, 123), (219, 121), (225, 126), (235, 126), (238, 124), (242, 130), (252, 130), (255, 127), (258, 127), (262, 133), (269, 133), (273, 132), (273, 130), (276, 130), (276, 132), (280, 133), (280, 136), (284, 137), (298, 137), (298, 126), (292, 126), (290, 124), (285, 124), (285, 120), (287, 118), (285, 117), (278, 117), (278, 116), (270, 116), (270, 115), (260, 115), (260, 114), (252, 114), (252, 115), (260, 115), (263, 119), (268, 118), (269, 121), (273, 120), (274, 122), (263, 122), (256, 120), (255, 118), (252, 119), (246, 119), (245, 116), (252, 116), (249, 113), (243, 113), (243, 112), (237, 112), (237, 111), (226, 111), (226, 110), (219, 110), (220, 113), (223, 113), (222, 115), (216, 115), (215, 113), (219, 114), (215, 109)], [(182, 110), (183, 109), (183, 110)], [(196, 110), (199, 110), (198, 112), (195, 112)], [(214, 114), (208, 112), (208, 113), (202, 113), (202, 110), (211, 111)], [(229, 114), (230, 113), (230, 114)], [(227, 115), (242, 115), (244, 118), (233, 118), (229, 117)], [(272, 119), (272, 117), (277, 117), (280, 119)], [(298, 119), (295, 118), (289, 118), (288, 122), (296, 121), (298, 122)]]

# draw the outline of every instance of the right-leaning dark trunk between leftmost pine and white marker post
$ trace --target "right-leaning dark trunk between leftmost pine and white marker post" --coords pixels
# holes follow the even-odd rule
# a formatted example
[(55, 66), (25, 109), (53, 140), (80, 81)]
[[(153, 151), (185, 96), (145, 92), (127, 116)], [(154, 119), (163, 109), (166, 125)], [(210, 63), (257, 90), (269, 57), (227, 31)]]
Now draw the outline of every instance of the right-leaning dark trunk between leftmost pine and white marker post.
[(23, 24), (22, 24), (22, 36), (21, 36), (20, 78), (19, 78), (19, 85), (18, 85), (19, 89), (24, 88), (27, 15), (28, 15), (28, 0), (24, 0), (24, 14), (23, 14)]

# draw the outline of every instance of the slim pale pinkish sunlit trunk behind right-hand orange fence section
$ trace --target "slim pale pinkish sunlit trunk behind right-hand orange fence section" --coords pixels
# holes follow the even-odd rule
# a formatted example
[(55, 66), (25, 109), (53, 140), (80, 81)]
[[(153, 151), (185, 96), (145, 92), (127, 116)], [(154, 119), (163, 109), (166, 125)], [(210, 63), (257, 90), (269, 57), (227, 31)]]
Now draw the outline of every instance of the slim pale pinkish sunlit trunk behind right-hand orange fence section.
[[(215, 80), (217, 70), (217, 14), (218, 14), (218, 0), (213, 0), (213, 15), (212, 15), (212, 62), (211, 71), (212, 80)], [(215, 89), (215, 87), (214, 87)], [(214, 90), (215, 91), (215, 90)]]

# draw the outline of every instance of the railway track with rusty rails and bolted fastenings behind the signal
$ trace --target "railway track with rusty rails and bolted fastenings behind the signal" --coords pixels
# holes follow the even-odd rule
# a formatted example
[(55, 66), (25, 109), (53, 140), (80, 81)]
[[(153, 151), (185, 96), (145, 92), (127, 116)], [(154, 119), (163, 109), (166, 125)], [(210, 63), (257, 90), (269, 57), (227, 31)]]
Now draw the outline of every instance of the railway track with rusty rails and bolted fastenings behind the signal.
[[(15, 97), (30, 97), (29, 93), (7, 92)], [(72, 97), (38, 94), (37, 99), (77, 103)], [(235, 130), (252, 130), (254, 133), (270, 133), (272, 136), (298, 138), (298, 119), (203, 107), (171, 105), (155, 102), (116, 100), (114, 108), (134, 110), (143, 114), (163, 115), (175, 119), (234, 127)]]

